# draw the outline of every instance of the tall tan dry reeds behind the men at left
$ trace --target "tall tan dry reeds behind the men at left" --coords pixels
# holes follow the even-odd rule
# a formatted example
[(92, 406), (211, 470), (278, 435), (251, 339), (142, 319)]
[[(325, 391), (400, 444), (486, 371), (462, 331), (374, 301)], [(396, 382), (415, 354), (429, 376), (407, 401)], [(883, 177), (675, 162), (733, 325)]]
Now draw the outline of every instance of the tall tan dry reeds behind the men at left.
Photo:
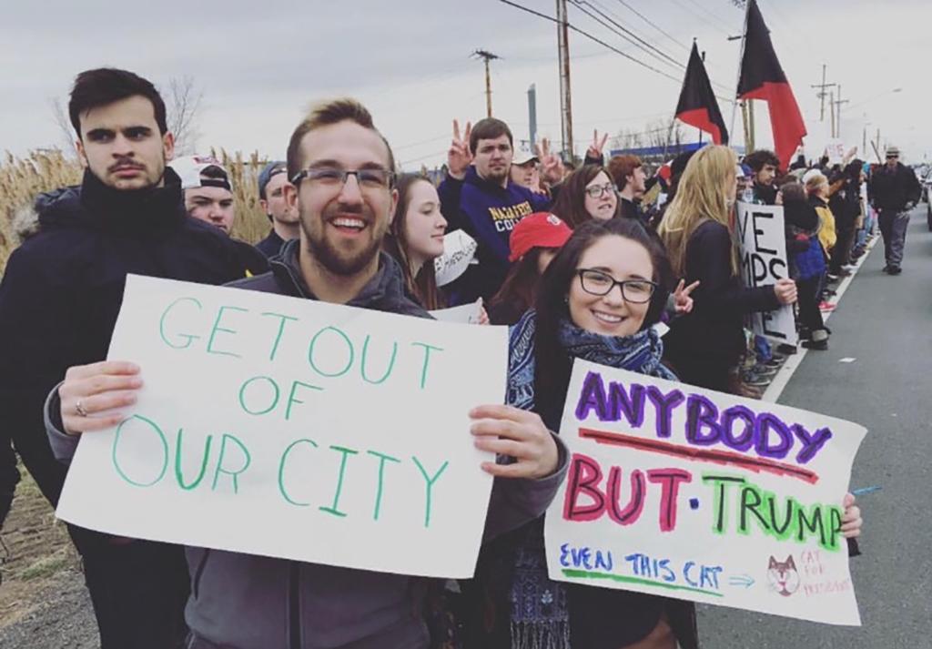
[[(240, 152), (230, 155), (223, 150), (217, 158), (229, 170), (234, 186), (237, 219), (233, 224), (233, 236), (250, 243), (258, 242), (270, 228), (259, 205), (256, 185), (266, 160), (259, 159), (255, 153), (244, 159)], [(26, 158), (14, 158), (7, 153), (7, 157), (0, 160), (0, 273), (7, 266), (7, 257), (21, 243), (14, 227), (16, 215), (29, 208), (42, 192), (77, 185), (82, 173), (80, 163), (66, 158), (58, 149), (34, 151)]]

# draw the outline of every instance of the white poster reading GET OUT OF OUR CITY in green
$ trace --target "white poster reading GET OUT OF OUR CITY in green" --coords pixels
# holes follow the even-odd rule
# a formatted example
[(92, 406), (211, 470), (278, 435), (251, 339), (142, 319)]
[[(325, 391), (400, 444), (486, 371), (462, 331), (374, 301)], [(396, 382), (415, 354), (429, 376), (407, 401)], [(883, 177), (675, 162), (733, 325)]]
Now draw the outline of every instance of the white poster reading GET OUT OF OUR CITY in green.
[[(506, 331), (130, 276), (109, 357), (144, 389), (82, 436), (58, 507), (92, 530), (472, 576)], [(438, 550), (441, 548), (442, 551)]]

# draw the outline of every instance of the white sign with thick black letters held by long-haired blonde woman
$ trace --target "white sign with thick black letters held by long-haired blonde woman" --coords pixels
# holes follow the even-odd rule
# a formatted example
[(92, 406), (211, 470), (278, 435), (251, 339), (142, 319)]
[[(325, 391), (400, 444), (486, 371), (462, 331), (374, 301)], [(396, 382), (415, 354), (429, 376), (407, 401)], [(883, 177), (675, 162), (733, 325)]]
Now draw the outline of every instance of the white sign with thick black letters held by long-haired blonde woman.
[[(770, 286), (789, 277), (783, 208), (778, 205), (737, 204), (741, 235), (741, 271), (749, 288)], [(752, 313), (755, 334), (795, 345), (799, 340), (792, 305), (776, 311)]]

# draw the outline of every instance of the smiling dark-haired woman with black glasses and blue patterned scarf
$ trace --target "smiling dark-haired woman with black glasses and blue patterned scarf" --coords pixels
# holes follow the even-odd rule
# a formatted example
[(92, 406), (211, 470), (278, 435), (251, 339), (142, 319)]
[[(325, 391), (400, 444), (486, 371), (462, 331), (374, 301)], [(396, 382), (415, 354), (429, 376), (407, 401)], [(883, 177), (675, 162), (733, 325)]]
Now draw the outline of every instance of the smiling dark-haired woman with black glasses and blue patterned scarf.
[[(663, 247), (637, 221), (590, 219), (575, 228), (543, 274), (535, 309), (510, 331), (509, 403), (558, 430), (576, 358), (676, 380), (651, 326), (664, 311), (667, 268)], [(645, 641), (694, 649), (689, 630), (673, 630), (693, 628), (691, 604), (550, 581), (541, 521), (515, 532), (516, 547), (480, 560), (475, 582), (486, 598), (501, 602), (500, 610), (476, 615), (494, 619), (495, 628), (469, 625), (467, 646), (524, 646), (534, 638), (535, 645), (555, 649)]]

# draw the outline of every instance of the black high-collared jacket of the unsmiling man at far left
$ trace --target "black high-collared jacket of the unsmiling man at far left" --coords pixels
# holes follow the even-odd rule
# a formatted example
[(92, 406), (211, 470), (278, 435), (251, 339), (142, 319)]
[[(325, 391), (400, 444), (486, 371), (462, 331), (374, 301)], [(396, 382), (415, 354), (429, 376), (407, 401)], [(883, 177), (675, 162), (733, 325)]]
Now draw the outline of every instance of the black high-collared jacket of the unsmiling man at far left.
[[(127, 274), (222, 284), (245, 269), (229, 237), (185, 214), (171, 169), (164, 187), (140, 191), (85, 173), (35, 207), (41, 229), (10, 255), (0, 283), (0, 412), (14, 436), (48, 449), (46, 396), (68, 367), (106, 358)], [(61, 489), (43, 486), (53, 503)]]

